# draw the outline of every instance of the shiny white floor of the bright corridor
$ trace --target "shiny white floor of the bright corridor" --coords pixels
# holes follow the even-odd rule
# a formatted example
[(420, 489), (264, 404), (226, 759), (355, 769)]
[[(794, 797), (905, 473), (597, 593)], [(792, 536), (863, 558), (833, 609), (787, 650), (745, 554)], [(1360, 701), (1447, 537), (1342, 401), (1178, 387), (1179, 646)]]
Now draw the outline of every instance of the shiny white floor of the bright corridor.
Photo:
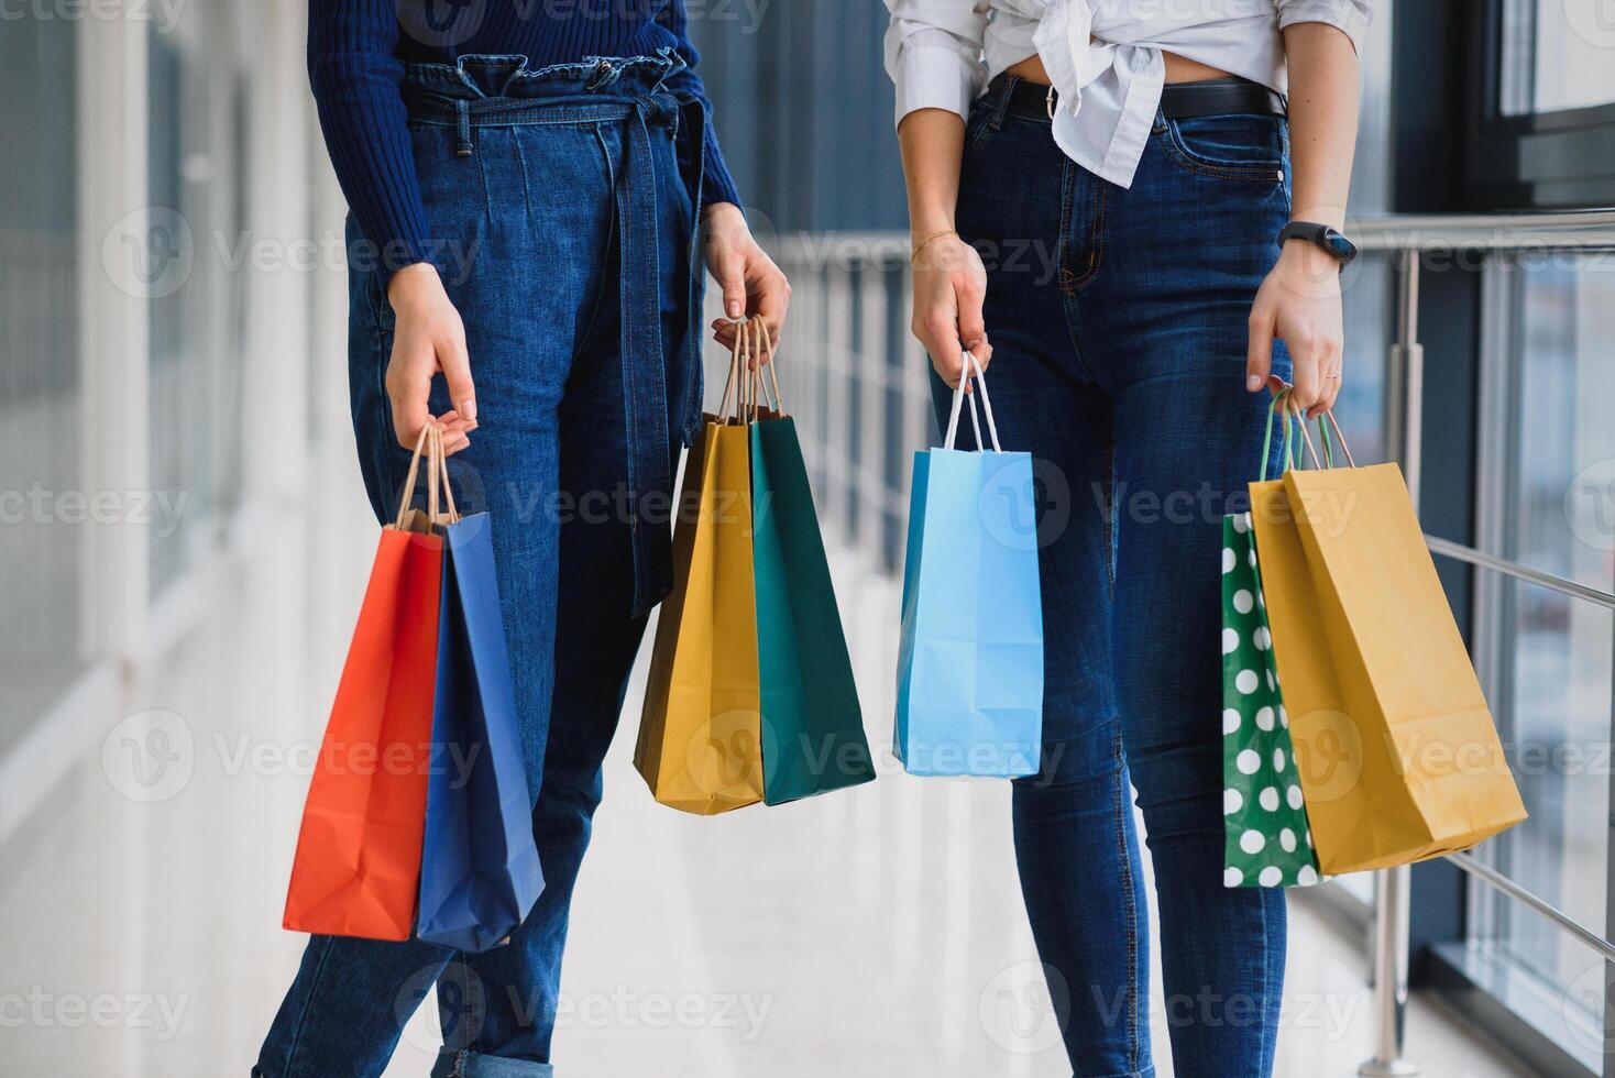
[[(373, 536), (347, 481), (313, 510), (310, 531), (258, 529), (187, 644), (115, 713), (79, 717), (90, 752), (0, 850), (0, 1073), (250, 1065), (302, 944), (279, 930), (286, 873)], [(848, 578), (840, 594), (882, 744), (893, 597)], [(1003, 784), (888, 762), (841, 796), (701, 820), (651, 802), (631, 744), (614, 749), (577, 899), (560, 1073), (1069, 1073), (1037, 1007)], [(1279, 1073), (1353, 1073), (1371, 1023), (1360, 954), (1302, 905), (1290, 954)], [(389, 1075), (425, 1073), (428, 1012)], [(1516, 1073), (1423, 1002), (1410, 1055), (1437, 1078)]]

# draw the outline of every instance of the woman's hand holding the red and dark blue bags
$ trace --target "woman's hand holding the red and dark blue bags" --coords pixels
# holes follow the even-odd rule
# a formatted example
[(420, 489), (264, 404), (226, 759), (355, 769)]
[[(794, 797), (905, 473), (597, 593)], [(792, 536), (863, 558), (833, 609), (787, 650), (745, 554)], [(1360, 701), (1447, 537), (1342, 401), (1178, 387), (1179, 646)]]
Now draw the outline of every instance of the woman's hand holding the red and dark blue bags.
[[(449, 302), (438, 270), (425, 261), (392, 274), (388, 302), (394, 329), (386, 389), (399, 445), (413, 449), (422, 428), (433, 421), (443, 429), (444, 453), (457, 453), (472, 444), (470, 434), (476, 429), (476, 387), (460, 311)], [(426, 400), (438, 371), (449, 382), (454, 408), (433, 418)]]

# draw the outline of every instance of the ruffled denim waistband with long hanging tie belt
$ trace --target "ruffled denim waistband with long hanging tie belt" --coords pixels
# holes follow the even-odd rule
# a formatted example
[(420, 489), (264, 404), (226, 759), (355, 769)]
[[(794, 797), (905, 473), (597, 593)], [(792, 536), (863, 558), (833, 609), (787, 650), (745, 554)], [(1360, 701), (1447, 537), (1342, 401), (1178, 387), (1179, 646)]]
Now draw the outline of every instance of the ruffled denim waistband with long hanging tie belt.
[[(476, 129), (515, 124), (622, 123), (625, 150), (614, 169), (619, 311), (623, 353), (623, 420), (627, 426), (628, 497), (633, 507), (633, 613), (648, 613), (673, 584), (672, 537), (646, 520), (646, 495), (673, 489), (669, 460), (667, 342), (661, 334), (661, 282), (657, 281), (657, 155), (651, 129), (670, 127), (690, 144), (682, 178), (701, 219), (701, 147), (706, 107), (688, 94), (664, 86), (685, 69), (672, 48), (651, 56), (589, 56), (580, 63), (526, 69), (520, 55), (467, 55), (457, 63), (417, 63), (407, 68), (404, 100), (413, 123), (455, 127), (454, 152), (478, 152)], [(701, 266), (698, 229), (691, 229), (683, 257), (690, 266), (690, 315), (683, 344), (694, 365), (691, 400), (683, 408), (677, 434), (688, 441), (701, 418)]]

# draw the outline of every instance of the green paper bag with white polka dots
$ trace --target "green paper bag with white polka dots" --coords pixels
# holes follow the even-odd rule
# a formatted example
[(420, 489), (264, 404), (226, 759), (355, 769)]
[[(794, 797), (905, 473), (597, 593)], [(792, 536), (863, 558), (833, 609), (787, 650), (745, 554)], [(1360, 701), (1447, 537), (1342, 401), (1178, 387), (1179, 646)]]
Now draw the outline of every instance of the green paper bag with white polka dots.
[[(1274, 400), (1274, 408), (1279, 407)], [(1286, 416), (1284, 460), (1290, 460)], [(1268, 444), (1273, 413), (1268, 413)], [(1268, 473), (1263, 450), (1261, 474)], [(1307, 805), (1284, 713), (1250, 513), (1223, 518), (1223, 884), (1318, 883)]]

